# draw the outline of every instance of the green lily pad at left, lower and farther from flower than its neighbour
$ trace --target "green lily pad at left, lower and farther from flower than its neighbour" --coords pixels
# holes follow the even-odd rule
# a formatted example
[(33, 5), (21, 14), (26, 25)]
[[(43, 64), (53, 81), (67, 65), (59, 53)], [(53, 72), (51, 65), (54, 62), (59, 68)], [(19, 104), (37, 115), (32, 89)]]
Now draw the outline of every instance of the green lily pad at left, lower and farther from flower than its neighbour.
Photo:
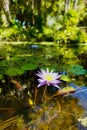
[(5, 74), (8, 76), (17, 76), (17, 75), (21, 75), (24, 73), (24, 70), (19, 69), (19, 68), (10, 68), (8, 70), (6, 70)]

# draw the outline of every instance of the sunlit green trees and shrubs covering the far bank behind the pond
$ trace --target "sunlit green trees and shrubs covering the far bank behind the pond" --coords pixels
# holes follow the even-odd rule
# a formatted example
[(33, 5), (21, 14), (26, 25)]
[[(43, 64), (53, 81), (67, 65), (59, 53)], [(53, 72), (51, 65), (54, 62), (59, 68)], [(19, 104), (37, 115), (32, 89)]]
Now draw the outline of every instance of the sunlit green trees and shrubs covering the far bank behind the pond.
[(85, 0), (1, 0), (0, 41), (87, 42)]

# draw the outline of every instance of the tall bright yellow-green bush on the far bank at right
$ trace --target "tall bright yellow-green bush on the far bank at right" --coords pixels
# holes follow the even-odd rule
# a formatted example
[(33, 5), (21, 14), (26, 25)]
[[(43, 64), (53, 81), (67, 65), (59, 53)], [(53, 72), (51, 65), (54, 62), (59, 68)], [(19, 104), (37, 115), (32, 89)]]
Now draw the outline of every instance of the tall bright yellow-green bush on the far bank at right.
[(87, 34), (78, 26), (80, 21), (80, 13), (77, 10), (69, 10), (60, 23), (62, 26), (59, 30), (54, 29), (55, 41), (59, 43), (86, 43)]

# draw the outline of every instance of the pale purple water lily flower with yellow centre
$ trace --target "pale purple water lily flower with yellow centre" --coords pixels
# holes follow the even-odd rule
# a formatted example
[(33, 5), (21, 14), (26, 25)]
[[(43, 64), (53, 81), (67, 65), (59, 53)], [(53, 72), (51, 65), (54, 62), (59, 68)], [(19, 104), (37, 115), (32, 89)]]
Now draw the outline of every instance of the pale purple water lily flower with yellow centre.
[(59, 75), (58, 73), (54, 73), (53, 70), (49, 71), (48, 68), (46, 70), (41, 69), (41, 71), (38, 71), (36, 75), (39, 77), (38, 87), (41, 87), (43, 85), (53, 85), (54, 87), (60, 89), (58, 85), (61, 83), (61, 81), (59, 80), (61, 75)]

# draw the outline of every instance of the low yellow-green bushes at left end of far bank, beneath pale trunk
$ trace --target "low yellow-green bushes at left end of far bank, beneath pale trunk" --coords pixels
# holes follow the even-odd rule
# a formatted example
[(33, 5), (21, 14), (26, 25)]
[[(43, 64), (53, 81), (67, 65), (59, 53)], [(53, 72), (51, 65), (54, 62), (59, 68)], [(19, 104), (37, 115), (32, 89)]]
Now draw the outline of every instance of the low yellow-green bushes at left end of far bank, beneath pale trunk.
[(25, 41), (25, 39), (26, 35), (22, 27), (14, 25), (12, 27), (0, 29), (1, 41)]

